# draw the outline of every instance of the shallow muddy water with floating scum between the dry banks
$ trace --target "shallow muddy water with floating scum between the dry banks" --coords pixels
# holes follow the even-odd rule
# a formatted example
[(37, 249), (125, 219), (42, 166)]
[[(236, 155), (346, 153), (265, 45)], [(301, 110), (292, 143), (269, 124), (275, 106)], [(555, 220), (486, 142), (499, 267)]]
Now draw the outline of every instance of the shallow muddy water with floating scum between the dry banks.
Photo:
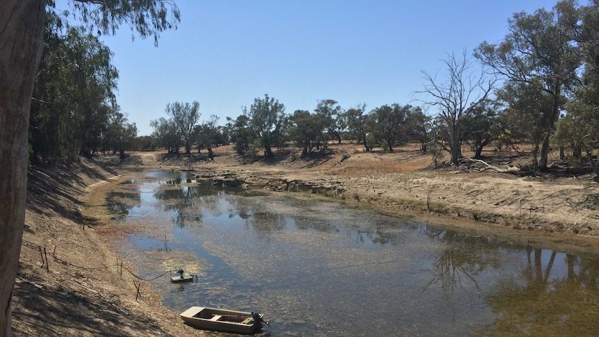
[(115, 240), (174, 312), (265, 314), (272, 336), (592, 336), (599, 256), (473, 236), (302, 194), (132, 172)]

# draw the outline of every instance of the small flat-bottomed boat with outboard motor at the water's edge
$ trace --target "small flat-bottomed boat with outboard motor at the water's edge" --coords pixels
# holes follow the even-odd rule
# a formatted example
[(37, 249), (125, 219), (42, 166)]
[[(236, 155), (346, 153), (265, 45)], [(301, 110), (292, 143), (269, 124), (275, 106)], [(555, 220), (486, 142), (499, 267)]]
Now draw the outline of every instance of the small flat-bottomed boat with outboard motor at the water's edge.
[[(192, 306), (181, 313), (183, 322), (196, 329), (253, 334), (262, 328), (263, 315), (228, 309)], [(266, 323), (266, 322), (265, 322)], [(268, 324), (268, 323), (267, 323)]]

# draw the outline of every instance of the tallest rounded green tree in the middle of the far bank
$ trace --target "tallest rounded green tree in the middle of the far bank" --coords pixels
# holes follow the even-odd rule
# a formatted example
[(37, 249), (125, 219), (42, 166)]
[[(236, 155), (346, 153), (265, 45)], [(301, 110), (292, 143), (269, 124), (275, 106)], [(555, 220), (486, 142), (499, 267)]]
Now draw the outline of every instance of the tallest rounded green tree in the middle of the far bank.
[(281, 121), (285, 118), (285, 106), (279, 100), (264, 95), (263, 99), (256, 98), (249, 107), (249, 125), (254, 135), (264, 149), (264, 156), (272, 156), (272, 145), (280, 136)]

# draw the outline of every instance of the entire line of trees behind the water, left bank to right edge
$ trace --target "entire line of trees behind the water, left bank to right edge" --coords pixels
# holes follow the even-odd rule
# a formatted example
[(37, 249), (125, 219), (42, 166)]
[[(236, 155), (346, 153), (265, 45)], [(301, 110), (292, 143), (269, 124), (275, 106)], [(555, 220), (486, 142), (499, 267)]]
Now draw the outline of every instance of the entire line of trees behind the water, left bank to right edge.
[(448, 151), (452, 165), (459, 165), (463, 145), (482, 158), (489, 145), (530, 142), (533, 169), (548, 169), (550, 150), (559, 148), (561, 158), (599, 174), (596, 1), (580, 6), (564, 0), (552, 10), (514, 14), (500, 43), (482, 42), (472, 55), (448, 54), (441, 78), (422, 72), (423, 89), (414, 92), (421, 106), (393, 103), (367, 111), (366, 104), (342, 108), (323, 99), (312, 111), (286, 113), (265, 94), (221, 126), (215, 115), (199, 122), (199, 102), (175, 101), (165, 108), (168, 118), (151, 121), (154, 133), (143, 137), (115, 100), (118, 72), (110, 49), (52, 11), (45, 22), (31, 101), (30, 161), (158, 147), (174, 154), (206, 149), (212, 158), (213, 147), (223, 144), (235, 145), (240, 155), (267, 157), (293, 144), (307, 156), (328, 142), (350, 140), (365, 151), (418, 142), (422, 151)]

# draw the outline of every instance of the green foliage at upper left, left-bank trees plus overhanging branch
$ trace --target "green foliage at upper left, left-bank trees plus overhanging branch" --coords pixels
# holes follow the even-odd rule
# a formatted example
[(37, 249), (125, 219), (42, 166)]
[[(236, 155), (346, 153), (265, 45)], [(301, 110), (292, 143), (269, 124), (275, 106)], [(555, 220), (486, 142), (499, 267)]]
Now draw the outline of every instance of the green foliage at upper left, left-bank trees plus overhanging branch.
[[(75, 160), (109, 148), (123, 155), (137, 129), (119, 112), (113, 54), (94, 34), (113, 34), (128, 24), (157, 44), (158, 33), (176, 28), (180, 19), (169, 0), (74, 0), (72, 8), (57, 13), (54, 1), (47, 1), (44, 52), (31, 104), (31, 161)], [(81, 19), (84, 26), (63, 25), (61, 15)]]

